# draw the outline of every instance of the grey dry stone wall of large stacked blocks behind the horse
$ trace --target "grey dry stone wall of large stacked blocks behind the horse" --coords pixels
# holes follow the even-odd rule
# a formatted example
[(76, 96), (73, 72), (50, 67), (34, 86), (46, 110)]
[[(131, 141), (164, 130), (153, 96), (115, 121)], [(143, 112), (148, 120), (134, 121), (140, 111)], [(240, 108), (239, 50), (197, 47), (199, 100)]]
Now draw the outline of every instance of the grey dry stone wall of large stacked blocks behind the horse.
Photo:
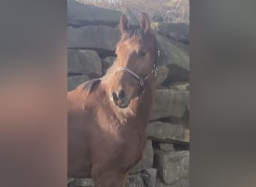
[[(67, 4), (67, 88), (103, 76), (115, 61), (121, 11), (70, 0)], [(134, 25), (138, 20), (124, 10)], [(141, 161), (129, 172), (128, 187), (189, 186), (189, 27), (152, 23), (161, 50), (156, 100)], [(70, 179), (70, 186), (94, 186)]]

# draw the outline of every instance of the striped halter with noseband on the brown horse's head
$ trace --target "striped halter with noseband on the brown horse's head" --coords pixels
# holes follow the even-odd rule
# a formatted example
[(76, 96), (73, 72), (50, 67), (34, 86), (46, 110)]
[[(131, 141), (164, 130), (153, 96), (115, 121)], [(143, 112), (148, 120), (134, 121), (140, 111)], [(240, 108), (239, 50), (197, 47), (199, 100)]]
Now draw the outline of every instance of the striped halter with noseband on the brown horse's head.
[(160, 58), (160, 51), (157, 50), (157, 59), (153, 64), (153, 70), (147, 76), (140, 77), (136, 73), (133, 73), (132, 70), (129, 70), (129, 68), (127, 68), (127, 67), (118, 68), (118, 70), (115, 71), (115, 76), (117, 75), (118, 72), (124, 72), (124, 73), (128, 73), (130, 76), (135, 78), (139, 82), (139, 85), (141, 88), (141, 92), (138, 93), (138, 96), (140, 96), (141, 93), (144, 93), (144, 91), (145, 91), (144, 90), (144, 82), (147, 81), (147, 79), (150, 78), (150, 76), (152, 76), (152, 75), (156, 78), (157, 70), (158, 70), (158, 66), (159, 66), (159, 58)]

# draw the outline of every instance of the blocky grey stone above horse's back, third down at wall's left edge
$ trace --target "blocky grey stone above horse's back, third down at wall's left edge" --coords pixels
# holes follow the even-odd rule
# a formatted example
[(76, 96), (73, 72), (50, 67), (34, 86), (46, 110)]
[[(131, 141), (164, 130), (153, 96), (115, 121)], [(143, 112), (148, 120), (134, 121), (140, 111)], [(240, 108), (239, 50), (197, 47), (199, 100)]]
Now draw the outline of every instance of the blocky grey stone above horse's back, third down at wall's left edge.
[(67, 73), (81, 73), (88, 76), (91, 74), (100, 77), (102, 75), (101, 59), (93, 50), (68, 49)]

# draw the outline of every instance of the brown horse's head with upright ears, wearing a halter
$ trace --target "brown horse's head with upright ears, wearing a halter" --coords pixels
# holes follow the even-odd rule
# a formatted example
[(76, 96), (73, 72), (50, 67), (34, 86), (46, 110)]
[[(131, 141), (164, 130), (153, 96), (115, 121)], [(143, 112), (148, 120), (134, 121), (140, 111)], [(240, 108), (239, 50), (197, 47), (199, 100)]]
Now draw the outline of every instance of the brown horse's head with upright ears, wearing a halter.
[(155, 80), (157, 54), (146, 13), (141, 13), (139, 28), (130, 28), (123, 14), (120, 30), (122, 36), (116, 49), (117, 69), (109, 97), (119, 108), (126, 108), (131, 99), (141, 95), (144, 88)]

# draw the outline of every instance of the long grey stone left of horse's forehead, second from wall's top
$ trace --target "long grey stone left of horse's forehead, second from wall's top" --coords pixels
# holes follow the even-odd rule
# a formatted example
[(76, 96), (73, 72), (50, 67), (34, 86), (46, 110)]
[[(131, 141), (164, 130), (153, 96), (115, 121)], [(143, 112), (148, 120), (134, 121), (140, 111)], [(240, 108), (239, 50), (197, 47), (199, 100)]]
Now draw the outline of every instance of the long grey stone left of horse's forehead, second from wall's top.
[(120, 39), (119, 28), (105, 25), (88, 25), (82, 28), (67, 28), (67, 48), (94, 49), (97, 52), (112, 52)]

